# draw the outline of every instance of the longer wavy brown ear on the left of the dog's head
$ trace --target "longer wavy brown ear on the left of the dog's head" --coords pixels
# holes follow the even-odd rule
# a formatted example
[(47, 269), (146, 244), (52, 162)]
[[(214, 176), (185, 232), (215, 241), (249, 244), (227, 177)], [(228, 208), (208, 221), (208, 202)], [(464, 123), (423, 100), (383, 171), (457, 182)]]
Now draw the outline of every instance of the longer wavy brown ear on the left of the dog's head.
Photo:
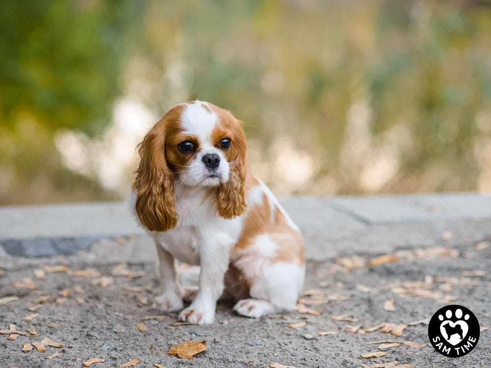
[(150, 231), (167, 231), (177, 225), (174, 207), (174, 182), (165, 160), (164, 122), (157, 123), (143, 138), (136, 170), (135, 211), (141, 223)]

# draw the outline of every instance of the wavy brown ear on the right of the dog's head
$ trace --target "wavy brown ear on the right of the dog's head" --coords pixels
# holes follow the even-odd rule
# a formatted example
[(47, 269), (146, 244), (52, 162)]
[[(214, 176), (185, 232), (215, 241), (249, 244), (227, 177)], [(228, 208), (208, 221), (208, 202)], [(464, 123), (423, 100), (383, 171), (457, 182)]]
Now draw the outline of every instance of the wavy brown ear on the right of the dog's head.
[(223, 218), (233, 218), (246, 211), (246, 151), (246, 135), (239, 125), (239, 131), (235, 134), (228, 157), (230, 162), (228, 182), (218, 187), (217, 212)]

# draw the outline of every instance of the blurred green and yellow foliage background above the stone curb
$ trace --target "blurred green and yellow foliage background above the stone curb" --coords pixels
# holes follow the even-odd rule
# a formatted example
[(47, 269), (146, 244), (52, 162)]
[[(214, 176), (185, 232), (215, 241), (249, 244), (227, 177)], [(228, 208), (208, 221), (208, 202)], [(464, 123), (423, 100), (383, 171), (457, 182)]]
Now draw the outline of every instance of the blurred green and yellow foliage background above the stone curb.
[(172, 105), (279, 195), (491, 191), (489, 1), (1, 1), (0, 203), (125, 198)]

